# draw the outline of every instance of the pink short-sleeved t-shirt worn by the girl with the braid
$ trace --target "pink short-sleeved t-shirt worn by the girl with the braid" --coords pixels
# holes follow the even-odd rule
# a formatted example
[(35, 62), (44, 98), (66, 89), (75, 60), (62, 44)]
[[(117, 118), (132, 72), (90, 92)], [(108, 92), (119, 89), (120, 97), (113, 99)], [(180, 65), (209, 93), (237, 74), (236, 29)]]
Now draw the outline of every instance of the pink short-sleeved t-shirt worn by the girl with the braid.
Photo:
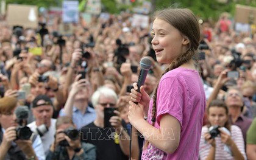
[[(151, 99), (149, 123), (152, 123), (152, 104)], [(197, 71), (177, 68), (163, 75), (157, 89), (155, 127), (160, 128), (163, 114), (176, 117), (181, 127), (180, 144), (172, 154), (149, 144), (148, 148), (143, 150), (141, 159), (198, 159), (205, 104), (204, 88)]]

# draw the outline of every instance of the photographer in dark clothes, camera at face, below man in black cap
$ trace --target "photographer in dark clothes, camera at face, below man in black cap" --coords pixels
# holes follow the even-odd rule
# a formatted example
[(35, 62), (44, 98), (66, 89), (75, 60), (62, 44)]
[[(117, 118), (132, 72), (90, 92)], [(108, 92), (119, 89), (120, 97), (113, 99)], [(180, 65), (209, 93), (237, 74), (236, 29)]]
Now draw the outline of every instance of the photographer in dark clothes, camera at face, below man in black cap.
[(59, 117), (56, 129), (55, 141), (46, 159), (96, 159), (95, 146), (80, 141), (80, 133), (70, 117)]

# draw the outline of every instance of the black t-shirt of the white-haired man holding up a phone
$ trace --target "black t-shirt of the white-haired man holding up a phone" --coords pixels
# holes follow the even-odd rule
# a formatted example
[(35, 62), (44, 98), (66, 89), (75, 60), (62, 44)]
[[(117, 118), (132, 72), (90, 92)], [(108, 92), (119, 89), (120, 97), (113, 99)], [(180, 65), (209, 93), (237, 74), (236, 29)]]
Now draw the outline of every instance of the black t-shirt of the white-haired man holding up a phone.
[[(124, 128), (126, 124), (122, 122)], [(93, 122), (81, 128), (82, 141), (96, 146), (97, 160), (127, 160), (128, 156), (124, 155), (117, 144), (118, 138), (115, 140), (114, 128), (99, 128)]]

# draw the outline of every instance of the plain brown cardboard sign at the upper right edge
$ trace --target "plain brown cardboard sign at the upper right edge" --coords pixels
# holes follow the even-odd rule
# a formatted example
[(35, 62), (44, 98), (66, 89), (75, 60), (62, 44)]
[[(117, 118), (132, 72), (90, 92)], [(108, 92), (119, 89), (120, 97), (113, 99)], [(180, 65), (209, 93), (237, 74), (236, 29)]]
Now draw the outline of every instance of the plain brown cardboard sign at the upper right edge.
[(256, 7), (236, 4), (235, 22), (242, 24), (256, 24)]

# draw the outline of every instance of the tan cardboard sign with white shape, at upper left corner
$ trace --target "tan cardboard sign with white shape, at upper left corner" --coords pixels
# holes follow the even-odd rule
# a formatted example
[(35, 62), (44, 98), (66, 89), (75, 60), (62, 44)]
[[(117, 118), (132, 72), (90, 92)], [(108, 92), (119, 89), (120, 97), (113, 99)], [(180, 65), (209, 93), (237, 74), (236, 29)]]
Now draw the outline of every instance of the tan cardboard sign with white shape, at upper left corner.
[(38, 26), (38, 11), (35, 5), (9, 4), (7, 6), (7, 24), (36, 28)]

